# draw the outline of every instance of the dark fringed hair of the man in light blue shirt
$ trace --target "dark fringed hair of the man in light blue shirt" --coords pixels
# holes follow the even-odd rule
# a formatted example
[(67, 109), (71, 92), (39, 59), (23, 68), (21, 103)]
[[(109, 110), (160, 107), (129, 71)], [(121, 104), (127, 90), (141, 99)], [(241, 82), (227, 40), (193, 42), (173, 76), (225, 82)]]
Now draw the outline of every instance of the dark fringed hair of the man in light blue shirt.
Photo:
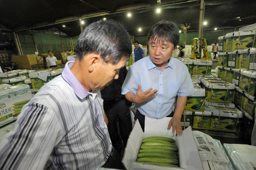
[(162, 20), (153, 25), (150, 29), (147, 43), (149, 43), (151, 39), (153, 41), (157, 39), (157, 41), (160, 42), (168, 41), (174, 45), (174, 48), (176, 48), (180, 39), (178, 26), (174, 22)]

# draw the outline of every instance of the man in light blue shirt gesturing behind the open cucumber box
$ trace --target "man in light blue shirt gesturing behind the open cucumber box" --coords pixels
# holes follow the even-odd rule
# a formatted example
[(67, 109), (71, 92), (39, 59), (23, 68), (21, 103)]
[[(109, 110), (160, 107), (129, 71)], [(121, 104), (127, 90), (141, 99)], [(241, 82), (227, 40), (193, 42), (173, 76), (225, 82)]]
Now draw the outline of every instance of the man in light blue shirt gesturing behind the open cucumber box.
[(150, 56), (129, 68), (122, 94), (136, 103), (135, 119), (139, 120), (143, 130), (145, 116), (156, 119), (172, 117), (167, 129), (172, 126), (173, 132), (176, 129), (176, 133), (181, 135), (180, 119), (187, 96), (195, 90), (186, 65), (171, 58), (179, 41), (179, 29), (175, 23), (161, 21), (151, 28), (147, 40)]

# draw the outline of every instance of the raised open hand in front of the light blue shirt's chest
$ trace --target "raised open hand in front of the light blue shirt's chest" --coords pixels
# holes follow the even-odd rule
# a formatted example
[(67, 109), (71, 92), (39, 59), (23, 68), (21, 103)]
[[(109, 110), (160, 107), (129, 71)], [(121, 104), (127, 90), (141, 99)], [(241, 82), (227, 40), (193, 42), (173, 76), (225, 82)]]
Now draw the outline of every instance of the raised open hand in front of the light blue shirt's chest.
[(141, 102), (145, 102), (148, 99), (151, 99), (152, 97), (156, 96), (156, 92), (157, 90), (153, 90), (153, 88), (148, 89), (145, 92), (141, 92), (141, 86), (138, 86), (138, 90), (136, 95), (134, 96), (134, 103), (141, 103)]

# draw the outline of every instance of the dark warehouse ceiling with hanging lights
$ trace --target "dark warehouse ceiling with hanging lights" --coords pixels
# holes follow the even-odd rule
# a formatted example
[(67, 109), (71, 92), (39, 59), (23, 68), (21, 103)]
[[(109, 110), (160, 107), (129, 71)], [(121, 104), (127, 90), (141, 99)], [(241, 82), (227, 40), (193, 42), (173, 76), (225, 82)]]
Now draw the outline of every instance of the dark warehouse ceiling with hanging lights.
[[(80, 34), (79, 18), (85, 22), (84, 27), (104, 17), (113, 19), (123, 23), (131, 35), (144, 36), (162, 19), (179, 26), (189, 23), (188, 31), (198, 30), (200, 14), (198, 0), (161, 0), (161, 4), (156, 0), (0, 0), (0, 3), (0, 25), (5, 28), (25, 31), (56, 27), (69, 36)], [(205, 0), (204, 29), (218, 28), (218, 31), (256, 23), (255, 7), (255, 0)], [(157, 8), (160, 13), (156, 13)]]

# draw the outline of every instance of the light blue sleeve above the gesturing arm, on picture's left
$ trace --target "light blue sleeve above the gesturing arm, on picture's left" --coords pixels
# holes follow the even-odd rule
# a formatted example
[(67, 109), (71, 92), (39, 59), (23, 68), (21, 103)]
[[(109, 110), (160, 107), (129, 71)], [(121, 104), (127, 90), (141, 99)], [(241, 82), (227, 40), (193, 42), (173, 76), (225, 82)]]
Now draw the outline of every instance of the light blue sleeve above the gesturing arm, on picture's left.
[(128, 73), (125, 77), (125, 81), (122, 85), (122, 94), (125, 95), (128, 92), (132, 92), (136, 94), (139, 83), (140, 83), (140, 80), (134, 74), (132, 68), (129, 68)]

